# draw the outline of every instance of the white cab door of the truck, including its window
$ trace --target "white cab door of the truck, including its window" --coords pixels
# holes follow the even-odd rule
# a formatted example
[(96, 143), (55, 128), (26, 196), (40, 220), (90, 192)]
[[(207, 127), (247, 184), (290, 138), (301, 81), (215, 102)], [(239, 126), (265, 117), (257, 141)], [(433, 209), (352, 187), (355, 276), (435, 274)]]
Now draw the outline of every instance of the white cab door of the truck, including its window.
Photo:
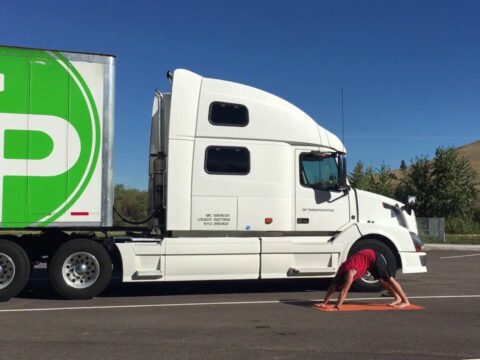
[(333, 153), (297, 149), (295, 156), (295, 230), (334, 232), (350, 220), (348, 192), (338, 191)]

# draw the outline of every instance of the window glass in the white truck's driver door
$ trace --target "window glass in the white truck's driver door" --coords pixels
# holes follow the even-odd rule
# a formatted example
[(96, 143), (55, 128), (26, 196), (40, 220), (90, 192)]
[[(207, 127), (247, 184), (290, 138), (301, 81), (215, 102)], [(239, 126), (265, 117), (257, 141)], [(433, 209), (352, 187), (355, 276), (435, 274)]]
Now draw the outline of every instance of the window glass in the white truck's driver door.
[(330, 154), (300, 154), (300, 184), (319, 190), (333, 190), (338, 186), (338, 167)]

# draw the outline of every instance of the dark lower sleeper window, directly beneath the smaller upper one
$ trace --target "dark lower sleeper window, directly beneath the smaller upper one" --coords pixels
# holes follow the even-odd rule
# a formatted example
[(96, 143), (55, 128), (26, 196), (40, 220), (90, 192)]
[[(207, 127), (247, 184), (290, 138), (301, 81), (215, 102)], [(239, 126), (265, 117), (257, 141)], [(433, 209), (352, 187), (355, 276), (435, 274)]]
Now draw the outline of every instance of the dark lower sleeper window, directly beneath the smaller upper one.
[(245, 147), (209, 146), (205, 150), (205, 171), (218, 175), (247, 175), (250, 152)]

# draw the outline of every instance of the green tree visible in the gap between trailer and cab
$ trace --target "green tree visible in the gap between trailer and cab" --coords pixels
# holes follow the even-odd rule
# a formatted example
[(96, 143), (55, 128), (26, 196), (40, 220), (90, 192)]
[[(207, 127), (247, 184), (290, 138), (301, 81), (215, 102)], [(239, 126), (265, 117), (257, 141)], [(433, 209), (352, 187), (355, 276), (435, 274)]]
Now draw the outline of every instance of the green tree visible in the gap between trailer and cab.
[[(148, 192), (127, 188), (123, 184), (115, 185), (115, 209), (127, 220), (142, 221), (147, 218)], [(119, 216), (114, 217), (114, 225), (129, 225)]]

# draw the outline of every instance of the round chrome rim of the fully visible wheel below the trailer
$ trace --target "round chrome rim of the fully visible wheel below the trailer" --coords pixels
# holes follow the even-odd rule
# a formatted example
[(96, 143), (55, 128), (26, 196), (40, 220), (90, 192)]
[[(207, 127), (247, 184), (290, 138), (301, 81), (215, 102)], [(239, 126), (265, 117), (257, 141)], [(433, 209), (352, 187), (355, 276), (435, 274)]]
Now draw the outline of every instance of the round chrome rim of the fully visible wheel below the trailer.
[(70, 255), (62, 266), (63, 280), (75, 289), (92, 286), (100, 274), (100, 264), (95, 256), (86, 252)]

